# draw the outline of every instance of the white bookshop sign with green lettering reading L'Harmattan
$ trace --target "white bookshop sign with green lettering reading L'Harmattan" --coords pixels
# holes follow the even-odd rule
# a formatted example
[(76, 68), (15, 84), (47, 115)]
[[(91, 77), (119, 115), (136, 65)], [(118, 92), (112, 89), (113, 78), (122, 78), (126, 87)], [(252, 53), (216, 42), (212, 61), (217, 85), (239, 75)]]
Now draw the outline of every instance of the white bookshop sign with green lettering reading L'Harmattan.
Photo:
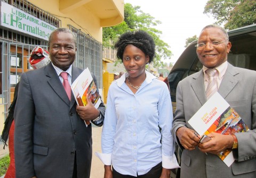
[(48, 40), (50, 33), (56, 29), (51, 24), (4, 2), (1, 2), (0, 25), (45, 40)]

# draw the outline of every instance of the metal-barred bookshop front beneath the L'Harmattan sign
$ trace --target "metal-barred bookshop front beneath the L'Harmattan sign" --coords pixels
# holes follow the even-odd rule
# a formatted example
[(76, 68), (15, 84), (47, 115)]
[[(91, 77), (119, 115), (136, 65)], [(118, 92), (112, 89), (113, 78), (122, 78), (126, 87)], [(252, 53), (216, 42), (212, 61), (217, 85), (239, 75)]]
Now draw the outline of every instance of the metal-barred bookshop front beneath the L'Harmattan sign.
[[(13, 100), (13, 93), (16, 84), (19, 82), (20, 76), (23, 72), (32, 70), (29, 65), (29, 57), (31, 51), (36, 45), (10, 43), (1, 41), (1, 78), (0, 78), (0, 108), (2, 111), (1, 124), (7, 117), (8, 108)], [(47, 49), (47, 46), (41, 46)], [(0, 126), (1, 128), (1, 126)]]

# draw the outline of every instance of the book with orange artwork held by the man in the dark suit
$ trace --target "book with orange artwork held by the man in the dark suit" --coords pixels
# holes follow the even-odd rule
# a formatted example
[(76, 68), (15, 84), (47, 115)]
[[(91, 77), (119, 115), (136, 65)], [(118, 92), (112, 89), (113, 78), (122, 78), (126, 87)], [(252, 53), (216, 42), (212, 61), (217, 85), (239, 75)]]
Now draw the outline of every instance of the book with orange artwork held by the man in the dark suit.
[[(93, 81), (91, 72), (86, 68), (77, 79), (71, 84), (71, 90), (75, 96), (76, 103), (79, 106), (86, 106), (87, 100), (86, 95), (88, 94), (89, 99), (95, 108), (100, 106), (100, 94)], [(86, 125), (90, 124), (90, 121), (85, 121)]]

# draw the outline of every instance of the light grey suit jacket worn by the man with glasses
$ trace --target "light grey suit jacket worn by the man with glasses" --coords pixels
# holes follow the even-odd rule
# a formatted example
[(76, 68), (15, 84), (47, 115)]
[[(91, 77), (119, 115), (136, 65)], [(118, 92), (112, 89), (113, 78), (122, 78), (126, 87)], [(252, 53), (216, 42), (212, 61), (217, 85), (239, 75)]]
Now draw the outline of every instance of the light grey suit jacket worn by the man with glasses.
[[(203, 70), (179, 82), (177, 110), (173, 120), (172, 134), (181, 126), (190, 129), (188, 120), (206, 102)], [(242, 117), (250, 131), (236, 133), (238, 151), (233, 151), (235, 162), (228, 167), (213, 154), (204, 154), (196, 148), (183, 150), (181, 177), (256, 177), (256, 72), (228, 64), (218, 92)]]

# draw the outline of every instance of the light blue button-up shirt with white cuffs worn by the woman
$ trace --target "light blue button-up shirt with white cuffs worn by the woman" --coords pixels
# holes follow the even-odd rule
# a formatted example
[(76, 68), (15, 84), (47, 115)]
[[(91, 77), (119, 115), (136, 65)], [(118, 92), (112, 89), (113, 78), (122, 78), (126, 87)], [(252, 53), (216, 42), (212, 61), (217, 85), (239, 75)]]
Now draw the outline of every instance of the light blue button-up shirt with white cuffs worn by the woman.
[(165, 168), (179, 167), (166, 84), (146, 71), (146, 80), (133, 94), (125, 77), (127, 73), (110, 85), (101, 136), (103, 154), (97, 156), (117, 172), (132, 176), (146, 174), (160, 162)]

